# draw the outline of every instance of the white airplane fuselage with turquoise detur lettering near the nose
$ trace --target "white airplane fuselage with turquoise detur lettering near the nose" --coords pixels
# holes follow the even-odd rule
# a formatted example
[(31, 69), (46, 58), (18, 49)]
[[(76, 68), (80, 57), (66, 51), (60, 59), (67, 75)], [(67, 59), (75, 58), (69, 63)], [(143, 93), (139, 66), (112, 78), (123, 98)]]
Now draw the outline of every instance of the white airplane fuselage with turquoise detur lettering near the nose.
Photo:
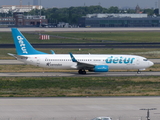
[[(17, 59), (27, 64), (53, 68), (53, 69), (78, 69), (69, 54), (25, 55), (28, 58)], [(153, 63), (144, 57), (136, 55), (111, 55), (111, 54), (74, 54), (77, 61), (93, 65), (107, 65), (109, 70), (120, 69), (144, 70)]]

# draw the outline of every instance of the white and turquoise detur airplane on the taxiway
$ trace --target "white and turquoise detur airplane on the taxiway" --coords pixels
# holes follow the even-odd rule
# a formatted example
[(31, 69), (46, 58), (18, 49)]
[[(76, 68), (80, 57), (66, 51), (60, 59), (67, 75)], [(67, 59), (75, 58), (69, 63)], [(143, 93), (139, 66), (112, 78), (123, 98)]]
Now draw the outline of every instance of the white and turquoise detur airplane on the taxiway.
[(33, 48), (17, 28), (11, 28), (17, 54), (9, 55), (18, 61), (39, 67), (53, 69), (73, 69), (79, 74), (89, 72), (108, 72), (109, 70), (142, 70), (154, 65), (145, 57), (137, 55), (114, 54), (52, 54), (44, 53)]

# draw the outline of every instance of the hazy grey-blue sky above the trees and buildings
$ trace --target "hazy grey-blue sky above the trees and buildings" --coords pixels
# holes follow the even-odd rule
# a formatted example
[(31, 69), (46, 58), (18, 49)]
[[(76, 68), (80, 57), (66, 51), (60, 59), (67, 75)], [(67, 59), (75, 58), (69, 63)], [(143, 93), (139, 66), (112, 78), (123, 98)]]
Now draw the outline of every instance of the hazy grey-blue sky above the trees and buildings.
[[(111, 6), (131, 7), (135, 8), (137, 4), (140, 8), (155, 8), (158, 0), (39, 0), (45, 8), (52, 7), (71, 7), (71, 6), (91, 6), (101, 5), (102, 7), (109, 8)], [(32, 5), (33, 0), (22, 0), (22, 5)], [(2, 5), (20, 5), (20, 0), (0, 0)]]

